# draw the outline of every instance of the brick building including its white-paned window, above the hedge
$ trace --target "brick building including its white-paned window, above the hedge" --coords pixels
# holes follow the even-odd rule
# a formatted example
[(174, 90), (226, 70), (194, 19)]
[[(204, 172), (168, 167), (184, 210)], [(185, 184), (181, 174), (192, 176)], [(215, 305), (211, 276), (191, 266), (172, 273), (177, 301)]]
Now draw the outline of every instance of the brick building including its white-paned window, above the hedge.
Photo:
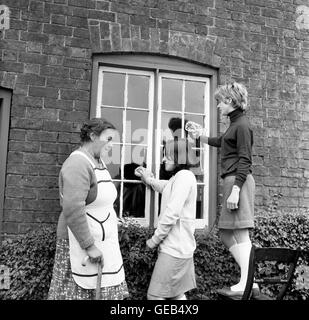
[[(308, 12), (305, 0), (1, 0), (1, 234), (57, 221), (59, 170), (93, 116), (119, 129), (120, 215), (155, 223), (158, 196), (126, 165), (159, 174), (171, 117), (222, 132), (213, 92), (230, 80), (249, 91), (257, 209), (281, 194), (280, 210), (308, 211)], [(197, 150), (199, 227), (220, 205), (220, 170), (217, 150)]]

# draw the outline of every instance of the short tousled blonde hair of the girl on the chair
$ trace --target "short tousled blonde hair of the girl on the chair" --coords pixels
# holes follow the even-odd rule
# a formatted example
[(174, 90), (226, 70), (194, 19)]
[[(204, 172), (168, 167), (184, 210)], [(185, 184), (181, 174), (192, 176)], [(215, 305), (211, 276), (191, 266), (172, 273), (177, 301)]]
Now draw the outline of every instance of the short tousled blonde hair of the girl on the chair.
[(215, 91), (215, 98), (220, 101), (232, 100), (233, 108), (240, 108), (243, 111), (248, 107), (248, 92), (246, 87), (238, 82), (219, 86)]

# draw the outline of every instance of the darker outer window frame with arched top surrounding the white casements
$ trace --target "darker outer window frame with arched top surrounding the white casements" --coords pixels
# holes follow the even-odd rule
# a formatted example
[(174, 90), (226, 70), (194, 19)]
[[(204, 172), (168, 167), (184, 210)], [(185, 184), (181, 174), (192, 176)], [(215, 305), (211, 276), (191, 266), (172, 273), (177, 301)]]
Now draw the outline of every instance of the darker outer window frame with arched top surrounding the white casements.
[[(96, 116), (97, 109), (97, 99), (100, 96), (98, 94), (98, 79), (99, 79), (99, 69), (101, 66), (110, 66), (117, 68), (134, 70), (143, 70), (154, 72), (154, 92), (156, 93), (153, 97), (154, 99), (154, 110), (158, 109), (158, 75), (161, 72), (175, 73), (182, 75), (191, 75), (197, 77), (203, 77), (209, 79), (209, 135), (218, 136), (219, 134), (219, 123), (218, 123), (218, 112), (216, 108), (216, 100), (214, 98), (214, 91), (218, 85), (218, 69), (213, 68), (209, 65), (202, 63), (197, 63), (187, 59), (177, 58), (173, 56), (162, 56), (160, 54), (144, 54), (144, 53), (102, 53), (93, 56), (92, 63), (92, 86), (91, 86), (91, 100), (90, 100), (90, 118)], [(131, 70), (131, 69), (130, 69)], [(153, 121), (157, 121), (156, 113), (154, 113)], [(150, 130), (149, 130), (150, 131)], [(152, 132), (152, 141), (156, 143), (157, 130)], [(153, 145), (153, 144), (152, 144)], [(205, 145), (204, 145), (205, 146)], [(155, 145), (153, 145), (156, 148)], [(202, 147), (202, 146), (201, 146)], [(148, 153), (150, 154), (150, 153)], [(152, 168), (151, 171), (155, 172), (155, 157), (152, 158)], [(148, 166), (147, 166), (148, 167)], [(206, 168), (205, 168), (206, 169)], [(210, 227), (213, 225), (218, 209), (218, 193), (219, 193), (219, 178), (218, 172), (218, 151), (217, 148), (209, 148), (209, 190), (208, 190), (208, 221), (206, 221), (205, 227)], [(208, 169), (208, 171), (209, 171)], [(207, 190), (206, 190), (207, 191)], [(150, 221), (146, 221), (146, 225), (154, 227), (155, 226), (155, 192), (151, 190), (150, 196)], [(203, 213), (204, 217), (205, 212)]]

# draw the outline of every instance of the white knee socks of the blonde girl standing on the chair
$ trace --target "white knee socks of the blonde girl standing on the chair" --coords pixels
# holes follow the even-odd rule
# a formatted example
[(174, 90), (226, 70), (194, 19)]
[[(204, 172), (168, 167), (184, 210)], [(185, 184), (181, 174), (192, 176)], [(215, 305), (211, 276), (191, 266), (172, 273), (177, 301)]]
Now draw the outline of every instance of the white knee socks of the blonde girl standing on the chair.
[(251, 251), (251, 241), (241, 242), (233, 245), (229, 251), (233, 255), (234, 259), (240, 267), (240, 281), (231, 287), (232, 291), (243, 291), (245, 290), (248, 268), (249, 268), (249, 257)]

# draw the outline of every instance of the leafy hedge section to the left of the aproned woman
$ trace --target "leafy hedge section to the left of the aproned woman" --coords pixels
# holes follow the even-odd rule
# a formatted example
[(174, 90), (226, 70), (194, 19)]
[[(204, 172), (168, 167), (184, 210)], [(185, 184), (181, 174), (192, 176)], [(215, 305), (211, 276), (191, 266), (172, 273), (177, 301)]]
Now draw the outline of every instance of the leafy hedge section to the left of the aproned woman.
[(56, 249), (55, 227), (42, 227), (26, 235), (4, 240), (0, 265), (10, 269), (10, 289), (1, 299), (41, 300), (48, 292)]

